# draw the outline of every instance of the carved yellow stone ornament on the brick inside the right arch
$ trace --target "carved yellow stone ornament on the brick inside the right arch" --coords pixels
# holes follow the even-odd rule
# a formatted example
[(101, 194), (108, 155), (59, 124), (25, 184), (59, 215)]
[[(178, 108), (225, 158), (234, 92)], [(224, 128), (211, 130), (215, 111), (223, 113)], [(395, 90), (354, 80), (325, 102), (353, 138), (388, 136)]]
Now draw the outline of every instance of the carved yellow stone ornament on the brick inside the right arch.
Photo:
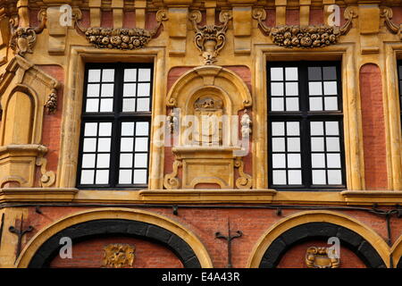
[(308, 268), (339, 268), (339, 258), (330, 257), (330, 248), (311, 247), (306, 251), (306, 265)]

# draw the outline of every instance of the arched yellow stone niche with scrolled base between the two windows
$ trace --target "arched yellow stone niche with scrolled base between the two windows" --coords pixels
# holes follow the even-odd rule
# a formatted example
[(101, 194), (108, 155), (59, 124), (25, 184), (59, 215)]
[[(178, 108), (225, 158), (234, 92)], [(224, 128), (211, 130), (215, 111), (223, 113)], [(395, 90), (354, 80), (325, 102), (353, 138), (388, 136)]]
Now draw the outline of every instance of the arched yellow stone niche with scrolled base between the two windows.
[(197, 67), (177, 80), (167, 99), (180, 127), (172, 147), (173, 172), (165, 174), (164, 188), (251, 188), (239, 134), (239, 114), (251, 106), (251, 96), (239, 76), (220, 66)]

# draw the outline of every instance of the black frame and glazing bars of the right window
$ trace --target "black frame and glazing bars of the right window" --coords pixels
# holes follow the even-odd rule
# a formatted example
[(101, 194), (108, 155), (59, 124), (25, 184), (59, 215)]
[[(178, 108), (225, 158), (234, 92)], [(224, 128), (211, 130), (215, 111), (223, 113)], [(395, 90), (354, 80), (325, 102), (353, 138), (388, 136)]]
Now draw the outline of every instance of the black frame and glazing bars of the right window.
[[(308, 67), (313, 66), (336, 66), (337, 69), (337, 89), (338, 89), (338, 111), (309, 111), (309, 95), (308, 95)], [(271, 79), (270, 68), (272, 67), (297, 67), (297, 81), (298, 81), (298, 104), (300, 111), (271, 111)], [(343, 105), (342, 105), (342, 79), (341, 79), (341, 64), (339, 61), (289, 61), (289, 62), (269, 62), (266, 68), (267, 77), (267, 130), (268, 130), (268, 181), (269, 188), (277, 190), (323, 190), (323, 191), (339, 191), (347, 189), (346, 177), (346, 162), (345, 162), (345, 143), (344, 143), (344, 124), (343, 124)], [(318, 80), (317, 80), (318, 81)], [(324, 80), (322, 80), (324, 81)], [(323, 97), (323, 96), (322, 96)], [(323, 100), (323, 98), (322, 98)], [(323, 105), (322, 105), (323, 106)], [(313, 185), (312, 181), (312, 163), (311, 163), (311, 132), (310, 122), (320, 121), (339, 122), (339, 153), (340, 153), (340, 167), (341, 167), (341, 180), (339, 185)], [(300, 122), (300, 156), (301, 156), (301, 172), (302, 184), (301, 185), (274, 185), (272, 184), (272, 122)], [(285, 124), (286, 125), (286, 124)], [(325, 124), (323, 124), (325, 128)], [(325, 134), (325, 130), (324, 130)], [(286, 135), (285, 135), (286, 138)], [(325, 138), (325, 135), (324, 135)], [(286, 145), (286, 144), (285, 144)], [(324, 146), (326, 150), (326, 143), (324, 139)], [(285, 147), (285, 154), (288, 154), (287, 147)], [(324, 151), (328, 154), (327, 151)], [(330, 152), (331, 153), (331, 152)], [(287, 156), (286, 156), (287, 157)], [(286, 160), (288, 160), (286, 158)], [(286, 168), (289, 170), (289, 168)], [(328, 170), (328, 169), (326, 169)], [(326, 181), (328, 181), (328, 173), (326, 173)]]

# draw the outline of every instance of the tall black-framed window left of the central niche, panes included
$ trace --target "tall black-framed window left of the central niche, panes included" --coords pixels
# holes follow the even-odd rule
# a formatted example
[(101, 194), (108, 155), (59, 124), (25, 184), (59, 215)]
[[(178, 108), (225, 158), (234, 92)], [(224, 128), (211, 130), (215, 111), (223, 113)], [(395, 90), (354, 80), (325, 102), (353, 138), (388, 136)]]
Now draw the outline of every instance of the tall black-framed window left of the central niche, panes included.
[(152, 65), (86, 66), (78, 187), (147, 186)]

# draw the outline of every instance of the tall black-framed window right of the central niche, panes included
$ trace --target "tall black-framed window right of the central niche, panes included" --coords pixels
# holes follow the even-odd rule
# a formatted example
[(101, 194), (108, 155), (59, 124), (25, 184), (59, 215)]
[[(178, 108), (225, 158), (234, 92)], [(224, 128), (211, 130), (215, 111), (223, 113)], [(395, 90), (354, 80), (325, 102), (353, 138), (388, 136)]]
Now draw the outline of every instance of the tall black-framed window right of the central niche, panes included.
[(269, 63), (269, 181), (274, 189), (344, 189), (339, 63)]

